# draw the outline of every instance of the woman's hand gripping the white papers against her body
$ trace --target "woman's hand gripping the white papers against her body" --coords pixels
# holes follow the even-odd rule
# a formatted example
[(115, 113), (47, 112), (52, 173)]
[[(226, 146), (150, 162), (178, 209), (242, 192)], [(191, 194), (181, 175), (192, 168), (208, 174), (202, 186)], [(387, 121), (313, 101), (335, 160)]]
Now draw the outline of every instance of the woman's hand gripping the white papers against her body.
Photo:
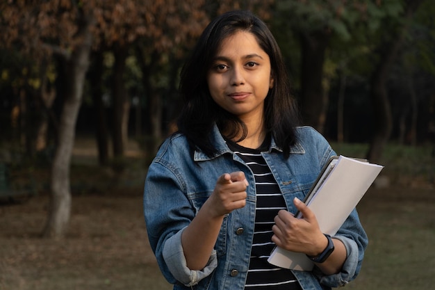
[(313, 211), (297, 198), (293, 202), (304, 217), (295, 218), (288, 211), (279, 211), (274, 218), (272, 241), (280, 248), (316, 256), (327, 247), (327, 238), (320, 231)]

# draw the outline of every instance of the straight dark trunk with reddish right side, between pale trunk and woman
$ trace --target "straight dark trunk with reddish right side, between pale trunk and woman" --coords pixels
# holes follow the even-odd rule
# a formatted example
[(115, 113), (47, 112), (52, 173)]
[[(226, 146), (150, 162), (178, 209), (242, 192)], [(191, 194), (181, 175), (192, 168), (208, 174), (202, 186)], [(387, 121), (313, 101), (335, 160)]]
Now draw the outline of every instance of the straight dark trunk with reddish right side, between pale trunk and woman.
[(126, 66), (127, 49), (116, 46), (115, 64), (113, 65), (113, 156), (115, 159), (124, 156), (128, 140), (129, 102), (124, 86), (124, 72)]

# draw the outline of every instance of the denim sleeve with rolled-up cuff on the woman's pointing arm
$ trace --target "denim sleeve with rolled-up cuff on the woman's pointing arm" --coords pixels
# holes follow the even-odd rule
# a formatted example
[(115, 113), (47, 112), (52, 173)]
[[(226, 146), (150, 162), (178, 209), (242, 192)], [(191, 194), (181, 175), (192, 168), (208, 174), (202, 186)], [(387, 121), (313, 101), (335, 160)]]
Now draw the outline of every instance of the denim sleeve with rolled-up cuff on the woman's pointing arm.
[(195, 217), (195, 210), (183, 188), (186, 186), (174, 166), (161, 160), (151, 163), (145, 180), (144, 215), (151, 249), (166, 280), (190, 287), (213, 272), (217, 257), (212, 252), (201, 271), (186, 266), (181, 234)]

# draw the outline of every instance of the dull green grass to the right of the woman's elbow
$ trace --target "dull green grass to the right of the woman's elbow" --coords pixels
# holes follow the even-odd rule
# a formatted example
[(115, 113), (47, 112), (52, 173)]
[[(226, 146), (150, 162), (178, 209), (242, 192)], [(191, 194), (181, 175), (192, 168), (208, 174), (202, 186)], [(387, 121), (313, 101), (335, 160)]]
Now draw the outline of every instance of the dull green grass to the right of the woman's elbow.
[(435, 191), (372, 189), (358, 206), (369, 245), (347, 289), (434, 289)]

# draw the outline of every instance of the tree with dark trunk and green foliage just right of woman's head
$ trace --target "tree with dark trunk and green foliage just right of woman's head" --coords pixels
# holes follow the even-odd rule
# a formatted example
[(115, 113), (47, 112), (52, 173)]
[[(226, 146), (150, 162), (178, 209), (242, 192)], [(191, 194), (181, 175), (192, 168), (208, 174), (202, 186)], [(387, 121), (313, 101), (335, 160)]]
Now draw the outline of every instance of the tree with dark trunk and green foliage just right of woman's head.
[[(295, 43), (300, 45), (300, 93), (299, 100), (302, 107), (304, 122), (318, 131), (323, 131), (326, 119), (330, 75), (325, 73), (327, 51), (333, 47), (339, 51), (358, 49), (356, 41), (360, 37), (361, 27), (368, 31), (379, 28), (385, 11), (395, 11), (400, 1), (345, 1), (345, 0), (284, 0), (277, 2), (277, 17), (274, 26), (281, 29), (286, 27), (293, 33)], [(362, 25), (361, 25), (362, 24)], [(277, 29), (278, 30), (278, 29)], [(282, 36), (281, 36), (282, 37)], [(352, 40), (352, 42), (350, 41)], [(331, 43), (333, 42), (333, 43)], [(345, 45), (339, 48), (337, 43)], [(361, 49), (359, 49), (361, 51)], [(354, 58), (359, 52), (347, 54)], [(349, 59), (335, 60), (343, 65)]]

